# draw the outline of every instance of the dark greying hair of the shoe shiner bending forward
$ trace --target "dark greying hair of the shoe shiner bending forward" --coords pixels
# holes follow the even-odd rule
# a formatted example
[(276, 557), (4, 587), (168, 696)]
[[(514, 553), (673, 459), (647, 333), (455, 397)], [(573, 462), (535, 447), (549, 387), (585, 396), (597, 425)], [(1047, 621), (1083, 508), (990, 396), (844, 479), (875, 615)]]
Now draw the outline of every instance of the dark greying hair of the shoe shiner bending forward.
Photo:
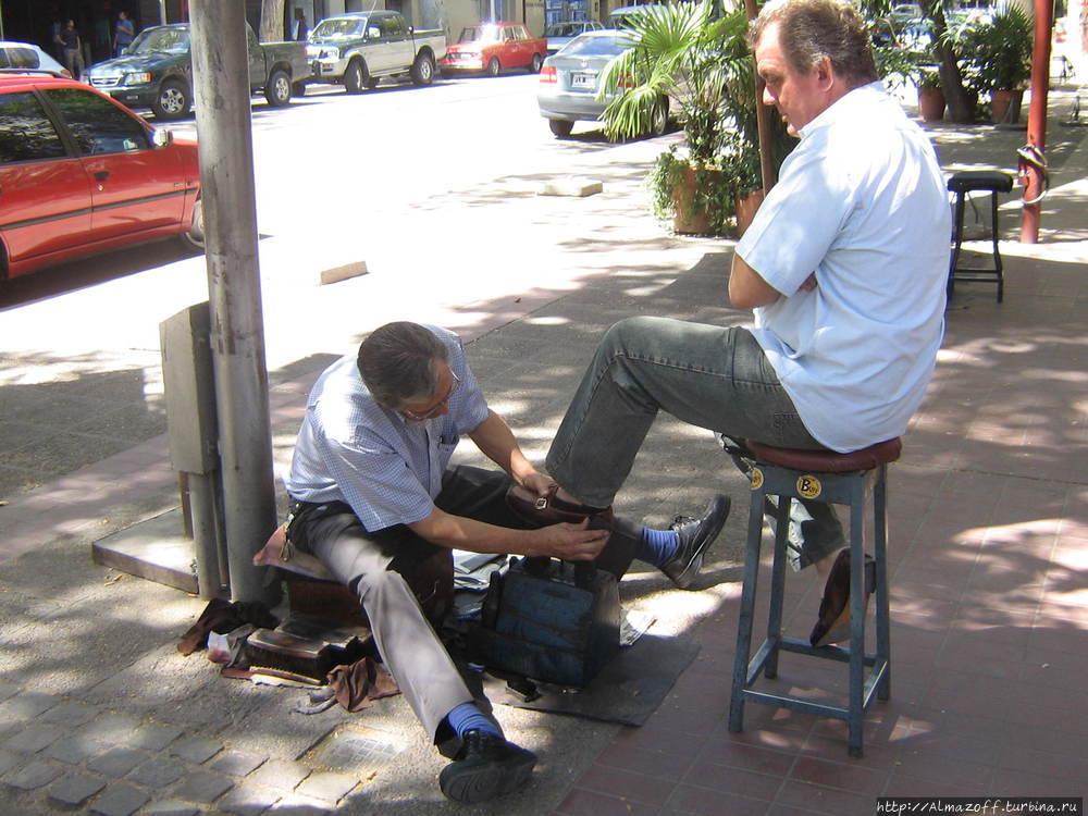
[(419, 323), (386, 323), (359, 346), (359, 375), (374, 401), (398, 409), (430, 399), (438, 387), (436, 361), (448, 362), (442, 341)]

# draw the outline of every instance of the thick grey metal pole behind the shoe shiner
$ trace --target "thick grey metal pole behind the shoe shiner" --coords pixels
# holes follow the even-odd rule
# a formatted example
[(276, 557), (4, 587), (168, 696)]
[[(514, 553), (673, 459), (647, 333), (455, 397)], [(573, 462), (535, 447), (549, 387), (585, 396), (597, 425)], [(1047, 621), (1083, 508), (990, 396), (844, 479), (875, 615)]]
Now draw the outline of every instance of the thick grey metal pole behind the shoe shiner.
[(231, 595), (267, 598), (251, 562), (275, 529), (245, 0), (190, 7)]

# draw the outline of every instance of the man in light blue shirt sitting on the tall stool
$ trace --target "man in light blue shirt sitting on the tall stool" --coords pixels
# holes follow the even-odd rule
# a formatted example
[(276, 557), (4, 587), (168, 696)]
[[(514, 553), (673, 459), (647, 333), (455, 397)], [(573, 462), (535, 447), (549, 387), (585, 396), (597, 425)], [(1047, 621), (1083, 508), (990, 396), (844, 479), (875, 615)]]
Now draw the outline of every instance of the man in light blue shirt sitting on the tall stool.
[[(951, 233), (934, 148), (877, 81), (850, 3), (769, 3), (750, 41), (764, 102), (801, 138), (733, 255), (729, 297), (755, 308), (755, 327), (609, 329), (547, 455), (562, 499), (610, 505), (658, 410), (732, 438), (850, 452), (901, 435), (922, 403)], [(801, 562), (832, 579), (811, 635), (825, 645), (849, 636), (849, 558), (833, 510), (805, 508)]]

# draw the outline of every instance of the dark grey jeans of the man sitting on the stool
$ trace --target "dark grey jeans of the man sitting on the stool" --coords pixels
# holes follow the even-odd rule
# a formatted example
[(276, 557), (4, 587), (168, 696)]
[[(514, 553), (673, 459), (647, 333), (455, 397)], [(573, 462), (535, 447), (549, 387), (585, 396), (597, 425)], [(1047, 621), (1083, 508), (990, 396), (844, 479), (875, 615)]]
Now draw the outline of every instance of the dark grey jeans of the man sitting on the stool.
[[(582, 502), (611, 505), (658, 410), (734, 440), (824, 449), (751, 332), (638, 317), (601, 339), (552, 442), (548, 473)], [(804, 509), (796, 537), (809, 564), (844, 539), (830, 505), (804, 502)]]

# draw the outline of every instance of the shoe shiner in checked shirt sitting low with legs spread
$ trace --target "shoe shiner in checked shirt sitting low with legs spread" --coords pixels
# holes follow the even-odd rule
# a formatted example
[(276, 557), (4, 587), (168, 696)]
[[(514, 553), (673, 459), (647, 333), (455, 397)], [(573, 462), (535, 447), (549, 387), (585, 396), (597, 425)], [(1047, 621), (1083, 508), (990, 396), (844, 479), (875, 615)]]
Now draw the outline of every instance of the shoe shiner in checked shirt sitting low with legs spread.
[[(447, 469), (462, 434), (503, 470)], [(596, 559), (617, 577), (640, 558), (687, 589), (729, 511), (718, 496), (702, 519), (670, 530), (621, 519), (608, 529), (586, 520), (528, 529), (506, 503), (514, 482), (537, 496), (555, 489), (487, 408), (459, 338), (407, 322), (375, 330), (358, 358), (321, 375), (286, 480), (294, 502), (288, 539), (359, 595), (378, 651), (416, 716), (435, 743), (455, 744), (440, 786), (459, 802), (521, 787), (536, 757), (507, 742), (473, 702), (406, 578), (457, 548)]]

